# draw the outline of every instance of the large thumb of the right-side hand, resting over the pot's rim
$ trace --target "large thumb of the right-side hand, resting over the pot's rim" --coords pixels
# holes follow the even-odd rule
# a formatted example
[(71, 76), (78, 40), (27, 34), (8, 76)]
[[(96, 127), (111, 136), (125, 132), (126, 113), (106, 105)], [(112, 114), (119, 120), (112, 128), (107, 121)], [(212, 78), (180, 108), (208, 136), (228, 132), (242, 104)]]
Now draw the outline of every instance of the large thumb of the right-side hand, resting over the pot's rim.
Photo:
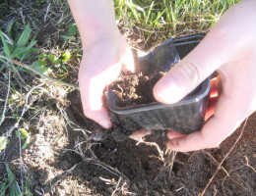
[(220, 45), (214, 44), (214, 38), (207, 36), (180, 63), (160, 78), (153, 89), (158, 101), (172, 104), (181, 100), (224, 64), (224, 53), (213, 52), (222, 50)]

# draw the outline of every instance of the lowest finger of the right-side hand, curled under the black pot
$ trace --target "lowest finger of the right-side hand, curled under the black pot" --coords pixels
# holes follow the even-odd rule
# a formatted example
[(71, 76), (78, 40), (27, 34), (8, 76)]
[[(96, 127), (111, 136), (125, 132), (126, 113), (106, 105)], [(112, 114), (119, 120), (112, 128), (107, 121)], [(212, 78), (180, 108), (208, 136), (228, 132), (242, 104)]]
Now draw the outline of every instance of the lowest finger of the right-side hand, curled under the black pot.
[[(231, 99), (229, 96), (222, 94), (215, 115), (203, 126), (202, 131), (171, 139), (167, 143), (167, 148), (179, 152), (188, 152), (219, 146), (247, 115), (237, 114), (237, 111), (243, 110), (242, 106), (238, 106), (237, 103), (239, 102), (239, 99)], [(233, 106), (237, 106), (237, 108)]]

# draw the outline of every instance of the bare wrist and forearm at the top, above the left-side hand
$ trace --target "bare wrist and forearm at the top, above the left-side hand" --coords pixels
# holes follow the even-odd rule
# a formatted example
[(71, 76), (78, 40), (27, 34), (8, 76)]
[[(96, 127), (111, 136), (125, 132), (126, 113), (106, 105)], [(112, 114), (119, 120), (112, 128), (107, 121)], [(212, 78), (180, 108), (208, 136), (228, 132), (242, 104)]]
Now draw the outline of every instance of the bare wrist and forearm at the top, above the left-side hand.
[(112, 0), (68, 0), (84, 45), (102, 36), (118, 36)]

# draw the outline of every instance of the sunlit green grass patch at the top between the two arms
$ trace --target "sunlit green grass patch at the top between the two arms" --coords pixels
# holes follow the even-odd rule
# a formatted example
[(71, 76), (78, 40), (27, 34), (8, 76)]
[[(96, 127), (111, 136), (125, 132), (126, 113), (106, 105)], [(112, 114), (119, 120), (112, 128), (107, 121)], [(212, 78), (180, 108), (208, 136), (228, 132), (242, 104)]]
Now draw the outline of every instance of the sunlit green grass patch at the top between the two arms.
[[(162, 41), (170, 36), (208, 31), (239, 0), (114, 0), (117, 24), (123, 31), (140, 32)], [(157, 41), (158, 42), (158, 41)]]

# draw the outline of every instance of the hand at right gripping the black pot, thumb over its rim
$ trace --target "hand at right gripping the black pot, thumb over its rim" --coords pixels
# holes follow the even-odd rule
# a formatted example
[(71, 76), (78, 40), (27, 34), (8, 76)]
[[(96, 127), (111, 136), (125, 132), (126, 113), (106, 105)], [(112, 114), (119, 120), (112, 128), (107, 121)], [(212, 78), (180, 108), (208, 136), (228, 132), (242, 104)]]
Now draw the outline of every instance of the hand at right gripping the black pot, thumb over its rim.
[(168, 131), (167, 147), (180, 152), (214, 148), (256, 109), (256, 2), (243, 1), (225, 13), (202, 42), (160, 79), (155, 98), (179, 101), (211, 73), (222, 80), (214, 116), (201, 131)]

